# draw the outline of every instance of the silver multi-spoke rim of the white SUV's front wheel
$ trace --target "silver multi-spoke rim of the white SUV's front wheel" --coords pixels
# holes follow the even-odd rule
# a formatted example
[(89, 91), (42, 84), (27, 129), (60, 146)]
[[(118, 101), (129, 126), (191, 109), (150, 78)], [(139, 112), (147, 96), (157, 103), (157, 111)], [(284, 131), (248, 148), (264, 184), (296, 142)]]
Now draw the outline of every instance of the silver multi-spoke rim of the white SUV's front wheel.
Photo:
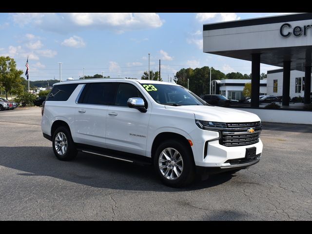
[(174, 148), (164, 149), (159, 156), (158, 166), (161, 174), (170, 180), (179, 178), (183, 171), (183, 159)]

